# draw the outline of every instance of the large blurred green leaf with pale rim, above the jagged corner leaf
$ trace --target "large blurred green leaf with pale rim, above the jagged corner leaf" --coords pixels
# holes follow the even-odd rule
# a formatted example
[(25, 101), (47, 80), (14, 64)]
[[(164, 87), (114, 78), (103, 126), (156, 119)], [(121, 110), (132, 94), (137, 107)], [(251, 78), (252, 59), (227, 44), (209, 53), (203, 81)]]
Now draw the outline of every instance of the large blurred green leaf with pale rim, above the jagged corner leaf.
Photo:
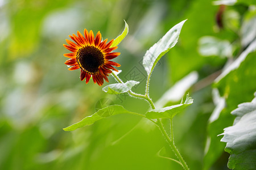
[[(255, 42), (253, 44), (256, 45)], [(253, 47), (251, 45), (247, 48)], [(242, 52), (242, 58), (238, 57), (214, 84), (218, 88), (220, 96), (225, 98), (225, 107), (217, 120), (210, 122), (208, 126), (210, 138), (204, 157), (204, 169), (209, 169), (223, 153), (225, 143), (219, 142), (221, 137), (217, 137), (217, 135), (221, 134), (224, 128), (232, 126), (234, 118), (230, 112), (236, 109), (238, 104), (250, 101), (251, 94), (255, 92), (256, 52), (248, 54), (249, 51), (246, 49)]]

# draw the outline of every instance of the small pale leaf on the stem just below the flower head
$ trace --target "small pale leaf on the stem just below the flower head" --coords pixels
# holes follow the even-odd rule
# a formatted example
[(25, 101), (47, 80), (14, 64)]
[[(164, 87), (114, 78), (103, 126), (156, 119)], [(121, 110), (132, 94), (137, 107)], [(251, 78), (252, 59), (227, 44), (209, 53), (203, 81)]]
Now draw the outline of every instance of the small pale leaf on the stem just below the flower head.
[(130, 80), (126, 83), (109, 84), (108, 86), (102, 88), (102, 90), (111, 95), (122, 94), (131, 90), (131, 88), (136, 84), (139, 84), (139, 82)]

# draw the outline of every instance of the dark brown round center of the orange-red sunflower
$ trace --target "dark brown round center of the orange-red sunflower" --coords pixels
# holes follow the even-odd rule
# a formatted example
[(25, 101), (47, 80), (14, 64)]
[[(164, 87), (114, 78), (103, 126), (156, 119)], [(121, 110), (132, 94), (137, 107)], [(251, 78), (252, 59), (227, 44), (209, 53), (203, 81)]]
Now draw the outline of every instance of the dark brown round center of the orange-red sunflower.
[(104, 64), (104, 56), (95, 46), (84, 46), (76, 53), (77, 63), (82, 70), (91, 74), (98, 72), (98, 67)]

